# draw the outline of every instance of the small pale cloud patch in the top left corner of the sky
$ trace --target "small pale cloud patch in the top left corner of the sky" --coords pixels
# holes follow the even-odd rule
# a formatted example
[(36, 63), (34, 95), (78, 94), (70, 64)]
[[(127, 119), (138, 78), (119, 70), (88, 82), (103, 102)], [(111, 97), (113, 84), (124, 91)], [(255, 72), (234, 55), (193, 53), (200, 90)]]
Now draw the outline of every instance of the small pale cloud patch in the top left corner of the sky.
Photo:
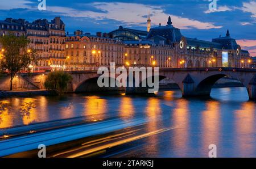
[(30, 9), (31, 1), (26, 0), (1, 0), (0, 10)]

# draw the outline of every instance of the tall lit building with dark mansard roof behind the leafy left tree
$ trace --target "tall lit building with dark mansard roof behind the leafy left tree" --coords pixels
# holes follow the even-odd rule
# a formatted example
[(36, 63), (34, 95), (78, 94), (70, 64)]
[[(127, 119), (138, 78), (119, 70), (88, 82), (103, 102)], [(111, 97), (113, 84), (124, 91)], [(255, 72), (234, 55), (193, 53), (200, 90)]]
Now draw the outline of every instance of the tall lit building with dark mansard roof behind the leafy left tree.
[(38, 19), (31, 23), (24, 19), (7, 18), (0, 21), (0, 26), (2, 36), (12, 32), (16, 36), (27, 36), (30, 40), (27, 48), (35, 49), (41, 58), (38, 65), (30, 65), (32, 71), (64, 69), (65, 24), (59, 17), (51, 22)]

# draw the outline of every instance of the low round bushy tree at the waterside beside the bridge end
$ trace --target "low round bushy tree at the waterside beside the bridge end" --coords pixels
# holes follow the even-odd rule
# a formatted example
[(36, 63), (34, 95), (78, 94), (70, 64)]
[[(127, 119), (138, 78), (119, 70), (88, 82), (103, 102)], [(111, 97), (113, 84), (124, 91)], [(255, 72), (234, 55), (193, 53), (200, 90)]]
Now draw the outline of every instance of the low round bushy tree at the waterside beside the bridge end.
[(53, 71), (47, 75), (44, 87), (46, 90), (54, 91), (59, 95), (63, 95), (67, 92), (68, 82), (72, 81), (72, 76), (69, 73), (63, 71)]

